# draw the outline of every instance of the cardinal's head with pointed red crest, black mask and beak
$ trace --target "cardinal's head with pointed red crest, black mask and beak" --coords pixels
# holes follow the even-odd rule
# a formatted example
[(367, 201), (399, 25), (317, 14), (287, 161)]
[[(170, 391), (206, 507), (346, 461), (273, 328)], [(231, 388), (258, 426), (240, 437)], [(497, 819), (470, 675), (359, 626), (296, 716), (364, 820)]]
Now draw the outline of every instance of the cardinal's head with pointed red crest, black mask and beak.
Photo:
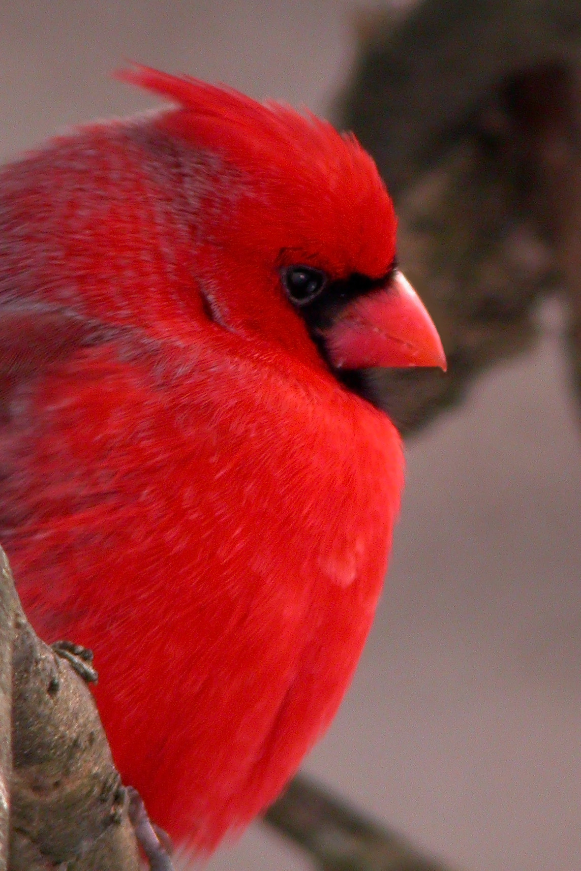
[(141, 66), (118, 76), (172, 100), (153, 124), (213, 167), (195, 224), (213, 321), (339, 375), (446, 368), (436, 327), (397, 266), (394, 206), (353, 134), (193, 78)]

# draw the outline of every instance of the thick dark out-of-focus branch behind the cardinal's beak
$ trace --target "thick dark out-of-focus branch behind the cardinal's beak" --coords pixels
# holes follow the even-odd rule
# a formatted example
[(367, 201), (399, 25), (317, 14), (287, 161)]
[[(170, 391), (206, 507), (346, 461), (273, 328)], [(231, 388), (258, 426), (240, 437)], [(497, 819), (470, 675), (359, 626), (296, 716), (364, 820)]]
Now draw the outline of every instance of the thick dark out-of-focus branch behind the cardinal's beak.
[(394, 195), (402, 268), (426, 301), (449, 373), (375, 372), (404, 432), (461, 402), (485, 368), (536, 339), (539, 300), (569, 300), (581, 400), (578, 0), (427, 0), (366, 17), (341, 98)]

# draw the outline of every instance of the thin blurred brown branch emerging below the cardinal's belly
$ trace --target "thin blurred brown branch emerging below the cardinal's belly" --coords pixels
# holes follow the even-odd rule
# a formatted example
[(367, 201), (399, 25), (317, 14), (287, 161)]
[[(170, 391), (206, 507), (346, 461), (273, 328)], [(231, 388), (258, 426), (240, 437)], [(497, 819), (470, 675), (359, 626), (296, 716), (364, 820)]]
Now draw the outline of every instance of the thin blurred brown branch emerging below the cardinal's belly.
[(304, 777), (293, 780), (266, 820), (303, 847), (321, 871), (444, 871), (400, 835), (364, 818)]

